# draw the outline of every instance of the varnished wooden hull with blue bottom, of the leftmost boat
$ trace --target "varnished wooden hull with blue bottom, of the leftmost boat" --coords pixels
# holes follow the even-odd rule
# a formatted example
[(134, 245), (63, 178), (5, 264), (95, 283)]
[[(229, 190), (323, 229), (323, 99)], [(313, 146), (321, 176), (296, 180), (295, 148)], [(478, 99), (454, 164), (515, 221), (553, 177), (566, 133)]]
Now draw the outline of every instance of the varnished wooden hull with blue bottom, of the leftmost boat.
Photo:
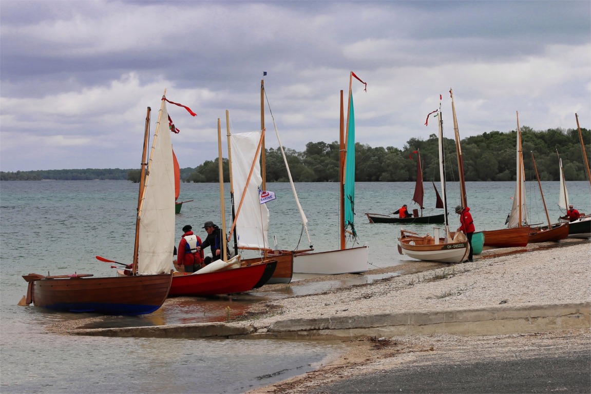
[[(32, 275), (37, 274), (25, 276)], [(38, 276), (43, 279), (29, 282), (27, 304), (57, 311), (106, 315), (142, 315), (158, 310), (173, 278), (171, 273), (107, 278)]]

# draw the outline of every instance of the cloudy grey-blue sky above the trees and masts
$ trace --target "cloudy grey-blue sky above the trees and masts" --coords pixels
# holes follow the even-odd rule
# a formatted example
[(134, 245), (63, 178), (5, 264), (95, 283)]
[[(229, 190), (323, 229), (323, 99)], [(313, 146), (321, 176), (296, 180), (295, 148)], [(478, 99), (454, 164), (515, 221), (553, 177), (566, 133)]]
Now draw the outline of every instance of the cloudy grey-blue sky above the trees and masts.
[[(591, 128), (590, 1), (0, 1), (0, 170), (139, 168), (161, 97), (180, 167), (218, 155), (217, 120), (267, 148), (339, 139), (403, 149), (443, 111), (453, 138)], [(263, 73), (267, 76), (263, 77)], [(443, 97), (440, 102), (440, 95)], [(269, 108), (272, 111), (269, 113)]]

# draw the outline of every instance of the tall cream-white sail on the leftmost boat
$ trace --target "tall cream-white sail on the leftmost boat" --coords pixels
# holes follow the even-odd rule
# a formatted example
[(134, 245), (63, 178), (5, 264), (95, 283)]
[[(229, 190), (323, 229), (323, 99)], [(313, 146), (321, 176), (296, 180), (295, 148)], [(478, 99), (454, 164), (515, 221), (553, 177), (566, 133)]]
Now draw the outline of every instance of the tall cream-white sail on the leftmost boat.
[(139, 215), (138, 273), (170, 271), (174, 250), (174, 162), (163, 100)]

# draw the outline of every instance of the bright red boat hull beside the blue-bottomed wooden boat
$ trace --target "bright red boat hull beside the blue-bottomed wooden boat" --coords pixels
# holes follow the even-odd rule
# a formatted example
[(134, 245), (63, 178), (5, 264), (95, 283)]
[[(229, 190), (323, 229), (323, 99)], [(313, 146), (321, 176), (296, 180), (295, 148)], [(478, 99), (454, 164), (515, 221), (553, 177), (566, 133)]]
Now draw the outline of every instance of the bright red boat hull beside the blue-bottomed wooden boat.
[(180, 295), (205, 296), (249, 291), (259, 284), (261, 278), (269, 278), (275, 271), (276, 265), (276, 262), (256, 263), (239, 268), (193, 275), (175, 272), (168, 297)]

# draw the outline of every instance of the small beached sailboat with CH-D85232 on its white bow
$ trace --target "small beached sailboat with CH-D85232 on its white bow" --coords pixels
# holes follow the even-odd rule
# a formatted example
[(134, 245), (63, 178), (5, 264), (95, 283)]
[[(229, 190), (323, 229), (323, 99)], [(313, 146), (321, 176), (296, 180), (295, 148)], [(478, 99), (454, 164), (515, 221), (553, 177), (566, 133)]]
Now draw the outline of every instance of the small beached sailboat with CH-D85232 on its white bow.
[(447, 193), (445, 180), (445, 161), (443, 157), (443, 116), (441, 115), (441, 103), (437, 111), (439, 118), (439, 174), (441, 178), (441, 194), (443, 196), (443, 211), (445, 213), (445, 227), (443, 237), (440, 237), (439, 227), (433, 229), (433, 236), (419, 236), (409, 230), (400, 230), (398, 238), (398, 253), (423, 261), (436, 261), (441, 263), (463, 262), (470, 252), (470, 244), (463, 233), (456, 233), (453, 239), (449, 232), (447, 219)]

